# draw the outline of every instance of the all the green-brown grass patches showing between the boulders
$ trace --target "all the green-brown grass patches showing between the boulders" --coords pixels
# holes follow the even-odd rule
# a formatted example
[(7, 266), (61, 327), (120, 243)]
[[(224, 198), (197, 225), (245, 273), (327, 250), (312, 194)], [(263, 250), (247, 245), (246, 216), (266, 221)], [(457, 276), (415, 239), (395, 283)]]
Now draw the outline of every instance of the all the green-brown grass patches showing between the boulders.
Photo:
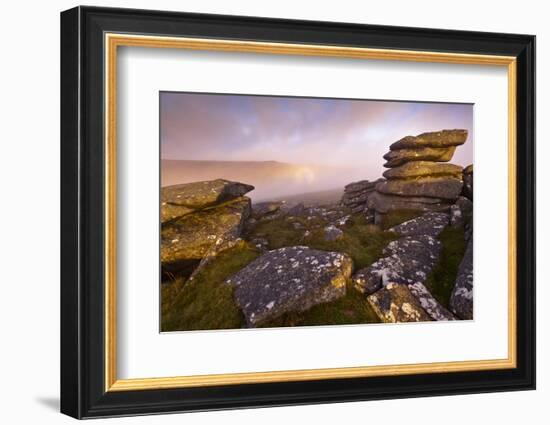
[[(417, 217), (418, 211), (395, 211), (386, 216), (384, 228)], [(293, 222), (300, 223), (296, 229)], [(307, 220), (298, 217), (292, 220), (277, 218), (260, 222), (246, 235), (247, 239), (267, 239), (269, 249), (284, 246), (307, 245), (324, 251), (339, 251), (348, 254), (354, 269), (367, 267), (382, 255), (384, 247), (397, 238), (380, 226), (367, 224), (362, 215), (353, 215), (342, 226), (344, 234), (335, 241), (326, 241), (324, 227), (328, 222), (322, 217)], [(309, 231), (308, 236), (304, 233)], [(450, 291), (458, 264), (464, 254), (464, 233), (447, 228), (440, 239), (443, 243), (440, 262), (428, 278), (428, 287), (442, 303), (448, 305)], [(235, 329), (244, 326), (244, 317), (235, 305), (233, 288), (224, 283), (230, 275), (241, 270), (256, 259), (260, 252), (243, 241), (218, 255), (197, 273), (192, 281), (176, 278), (162, 285), (162, 331)], [(300, 313), (287, 313), (263, 324), (263, 327), (346, 325), (379, 322), (365, 296), (347, 285), (346, 295), (338, 300), (313, 306)]]

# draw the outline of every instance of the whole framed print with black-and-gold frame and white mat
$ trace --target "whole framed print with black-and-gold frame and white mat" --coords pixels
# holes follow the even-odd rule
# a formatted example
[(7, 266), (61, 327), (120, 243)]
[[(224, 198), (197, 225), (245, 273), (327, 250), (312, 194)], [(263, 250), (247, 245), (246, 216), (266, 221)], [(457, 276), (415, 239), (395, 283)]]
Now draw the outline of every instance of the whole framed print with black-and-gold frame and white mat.
[(63, 12), (61, 411), (534, 389), (534, 64), (530, 35)]

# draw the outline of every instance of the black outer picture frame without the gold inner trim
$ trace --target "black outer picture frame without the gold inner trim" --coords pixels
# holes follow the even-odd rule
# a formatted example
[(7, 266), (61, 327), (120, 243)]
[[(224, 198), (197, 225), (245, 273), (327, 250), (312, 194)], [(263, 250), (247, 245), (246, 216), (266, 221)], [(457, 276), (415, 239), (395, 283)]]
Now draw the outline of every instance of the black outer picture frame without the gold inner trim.
[[(517, 367), (105, 391), (104, 34), (307, 43), (517, 58)], [(61, 412), (75, 418), (535, 388), (535, 37), (76, 7), (61, 13)]]

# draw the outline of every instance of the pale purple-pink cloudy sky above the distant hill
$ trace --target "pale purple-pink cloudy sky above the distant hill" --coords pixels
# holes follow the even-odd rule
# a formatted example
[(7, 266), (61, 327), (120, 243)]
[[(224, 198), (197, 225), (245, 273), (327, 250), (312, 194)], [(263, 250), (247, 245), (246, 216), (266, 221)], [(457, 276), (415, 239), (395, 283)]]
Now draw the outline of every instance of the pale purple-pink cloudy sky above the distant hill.
[[(473, 106), (161, 92), (161, 157), (365, 167), (407, 135), (467, 129), (451, 160), (473, 162)], [(369, 173), (371, 174), (371, 173)]]

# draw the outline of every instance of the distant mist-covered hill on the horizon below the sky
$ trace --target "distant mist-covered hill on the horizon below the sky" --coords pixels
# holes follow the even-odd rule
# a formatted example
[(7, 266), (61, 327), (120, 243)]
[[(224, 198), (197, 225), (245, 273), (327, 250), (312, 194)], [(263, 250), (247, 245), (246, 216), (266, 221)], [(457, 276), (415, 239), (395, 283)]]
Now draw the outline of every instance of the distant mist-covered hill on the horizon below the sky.
[(316, 193), (314, 198), (332, 201), (341, 195), (346, 184), (361, 178), (361, 170), (277, 161), (161, 161), (161, 186), (217, 178), (253, 185), (255, 190), (249, 196), (254, 201), (290, 199), (293, 195), (311, 193)]

